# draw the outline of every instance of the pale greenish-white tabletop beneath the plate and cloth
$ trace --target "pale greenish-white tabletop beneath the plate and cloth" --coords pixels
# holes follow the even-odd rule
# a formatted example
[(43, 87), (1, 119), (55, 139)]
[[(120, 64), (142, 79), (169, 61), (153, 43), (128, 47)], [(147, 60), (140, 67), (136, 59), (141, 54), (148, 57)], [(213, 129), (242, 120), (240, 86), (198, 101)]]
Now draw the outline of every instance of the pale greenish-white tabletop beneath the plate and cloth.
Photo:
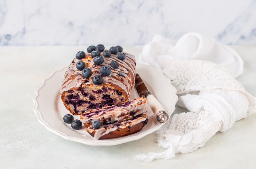
[[(256, 46), (231, 47), (244, 60), (244, 72), (236, 79), (256, 96)], [(46, 130), (33, 111), (34, 90), (86, 48), (0, 46), (0, 168), (256, 168), (256, 114), (216, 133), (196, 151), (150, 163), (134, 160), (134, 156), (165, 150), (156, 145), (155, 133), (115, 146), (89, 146)], [(142, 50), (142, 46), (123, 48), (136, 58)]]

